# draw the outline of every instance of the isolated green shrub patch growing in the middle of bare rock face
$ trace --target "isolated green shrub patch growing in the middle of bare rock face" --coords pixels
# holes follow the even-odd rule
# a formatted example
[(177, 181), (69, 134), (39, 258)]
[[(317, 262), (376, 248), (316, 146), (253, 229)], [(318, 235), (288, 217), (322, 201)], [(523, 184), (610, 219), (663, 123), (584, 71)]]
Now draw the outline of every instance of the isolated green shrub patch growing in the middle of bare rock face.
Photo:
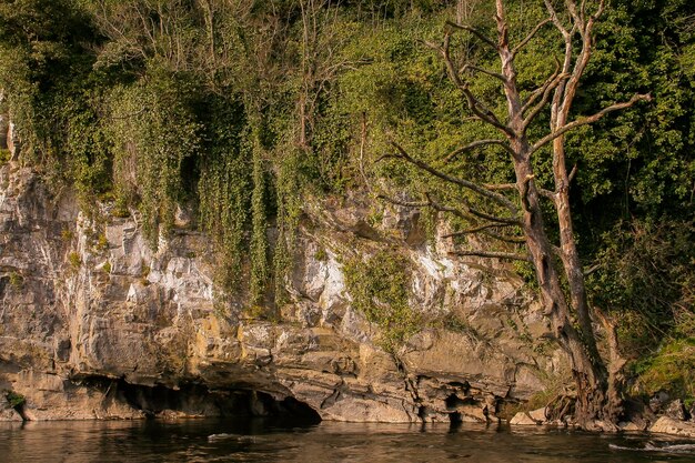
[(344, 272), (353, 306), (381, 329), (384, 350), (395, 352), (420, 329), (420, 316), (409, 303), (410, 261), (396, 251), (382, 250), (366, 262), (346, 262)]

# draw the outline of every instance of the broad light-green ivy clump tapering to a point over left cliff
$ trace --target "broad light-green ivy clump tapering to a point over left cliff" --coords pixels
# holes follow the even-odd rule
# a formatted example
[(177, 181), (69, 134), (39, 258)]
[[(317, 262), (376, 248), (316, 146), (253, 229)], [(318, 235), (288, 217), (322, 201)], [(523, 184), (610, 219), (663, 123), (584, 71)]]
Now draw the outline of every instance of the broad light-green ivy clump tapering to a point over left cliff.
[(183, 169), (194, 164), (190, 160), (201, 147), (202, 128), (190, 101), (195, 92), (190, 79), (155, 71), (147, 82), (117, 87), (109, 95), (117, 194), (139, 204), (154, 248), (191, 193)]

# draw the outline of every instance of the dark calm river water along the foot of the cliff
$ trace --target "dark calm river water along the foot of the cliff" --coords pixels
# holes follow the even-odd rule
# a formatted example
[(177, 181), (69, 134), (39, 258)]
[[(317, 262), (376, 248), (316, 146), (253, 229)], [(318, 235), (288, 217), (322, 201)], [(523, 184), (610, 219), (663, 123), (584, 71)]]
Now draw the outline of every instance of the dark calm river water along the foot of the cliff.
[[(695, 442), (505, 426), (0, 423), (0, 462), (695, 462)], [(681, 453), (678, 453), (681, 452)]]

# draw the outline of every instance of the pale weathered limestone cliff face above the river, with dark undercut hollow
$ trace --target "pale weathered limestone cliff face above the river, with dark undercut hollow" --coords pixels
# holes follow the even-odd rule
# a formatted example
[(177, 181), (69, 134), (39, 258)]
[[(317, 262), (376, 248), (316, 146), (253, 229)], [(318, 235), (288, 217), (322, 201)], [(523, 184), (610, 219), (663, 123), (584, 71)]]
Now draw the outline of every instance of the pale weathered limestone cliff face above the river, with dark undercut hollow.
[[(80, 211), (0, 168), (0, 420), (308, 410), (342, 421), (486, 421), (564, 374), (540, 306), (497, 264), (446, 256), (409, 211), (308, 201), (280, 320), (215, 302), (208, 238), (158, 250), (137, 213)], [(422, 326), (395, 352), (351, 305), (343, 255), (386, 238), (413, 263)], [(452, 320), (455, 321), (452, 322)], [(8, 399), (9, 400), (9, 399)], [(17, 402), (17, 401), (16, 401)], [(302, 405), (304, 404), (304, 405)], [(302, 409), (303, 407), (303, 409)]]

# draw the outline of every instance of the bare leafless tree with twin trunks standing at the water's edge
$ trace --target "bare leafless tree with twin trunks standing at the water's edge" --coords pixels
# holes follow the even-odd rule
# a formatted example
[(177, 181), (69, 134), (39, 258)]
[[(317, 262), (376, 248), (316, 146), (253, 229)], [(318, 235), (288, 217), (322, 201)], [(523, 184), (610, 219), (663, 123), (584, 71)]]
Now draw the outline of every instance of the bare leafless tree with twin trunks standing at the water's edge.
[[(528, 261), (535, 269), (545, 314), (560, 345), (568, 353), (576, 383), (575, 420), (585, 429), (615, 429), (622, 412), (621, 397), (616, 385), (615, 365), (607, 365), (598, 352), (596, 334), (592, 323), (592, 308), (587, 301), (584, 273), (576, 248), (570, 208), (570, 183), (576, 169), (567, 171), (564, 137), (581, 125), (591, 124), (606, 114), (629, 108), (638, 101), (648, 101), (648, 94), (635, 94), (628, 101), (617, 102), (601, 111), (571, 120), (570, 112), (577, 88), (592, 56), (594, 24), (604, 11), (604, 0), (590, 8), (587, 0), (565, 0), (565, 11), (558, 14), (551, 0), (544, 0), (548, 17), (538, 22), (516, 44), (510, 43), (508, 23), (503, 0), (496, 3), (496, 37), (461, 22), (449, 22), (442, 43), (427, 43), (446, 66), (449, 78), (463, 95), (472, 115), (491, 125), (500, 138), (473, 141), (447, 155), (447, 160), (465, 154), (481, 147), (502, 147), (510, 155), (516, 177), (510, 184), (477, 184), (441, 171), (406, 152), (393, 143), (396, 152), (389, 157), (405, 160), (444, 182), (451, 182), (469, 190), (482, 200), (492, 202), (497, 210), (494, 214), (459, 203), (455, 208), (437, 202), (427, 194), (421, 202), (394, 201), (402, 205), (431, 207), (442, 212), (453, 213), (474, 223), (469, 230), (450, 233), (454, 236), (469, 233), (485, 233), (506, 242), (523, 241), (526, 253), (493, 252), (488, 250), (462, 251), (461, 255), (482, 258), (516, 259)], [(592, 11), (590, 11), (592, 10)], [(515, 59), (520, 51), (546, 26), (554, 26), (564, 41), (564, 58), (557, 62), (555, 71), (525, 98), (517, 85)], [(498, 57), (500, 71), (474, 64), (457, 66), (452, 57), (451, 42), (454, 33), (465, 32)], [(506, 103), (505, 118), (497, 117), (471, 90), (471, 73), (483, 73), (500, 82), (504, 89)], [(550, 109), (550, 131), (544, 137), (532, 140), (528, 129), (536, 118)], [(535, 180), (533, 159), (538, 151), (552, 147), (554, 189), (543, 189)], [(513, 195), (507, 195), (513, 193)], [(557, 214), (560, 243), (548, 238), (543, 218), (541, 201), (550, 201)], [(393, 201), (391, 199), (391, 201)], [(515, 232), (510, 232), (515, 231)], [(521, 231), (521, 235), (518, 234)], [(566, 282), (567, 290), (563, 282)], [(612, 342), (611, 346), (615, 348)], [(612, 359), (617, 359), (615, 352)], [(608, 360), (610, 362), (611, 360)], [(612, 368), (610, 368), (612, 366)], [(611, 371), (611, 374), (608, 373)]]

